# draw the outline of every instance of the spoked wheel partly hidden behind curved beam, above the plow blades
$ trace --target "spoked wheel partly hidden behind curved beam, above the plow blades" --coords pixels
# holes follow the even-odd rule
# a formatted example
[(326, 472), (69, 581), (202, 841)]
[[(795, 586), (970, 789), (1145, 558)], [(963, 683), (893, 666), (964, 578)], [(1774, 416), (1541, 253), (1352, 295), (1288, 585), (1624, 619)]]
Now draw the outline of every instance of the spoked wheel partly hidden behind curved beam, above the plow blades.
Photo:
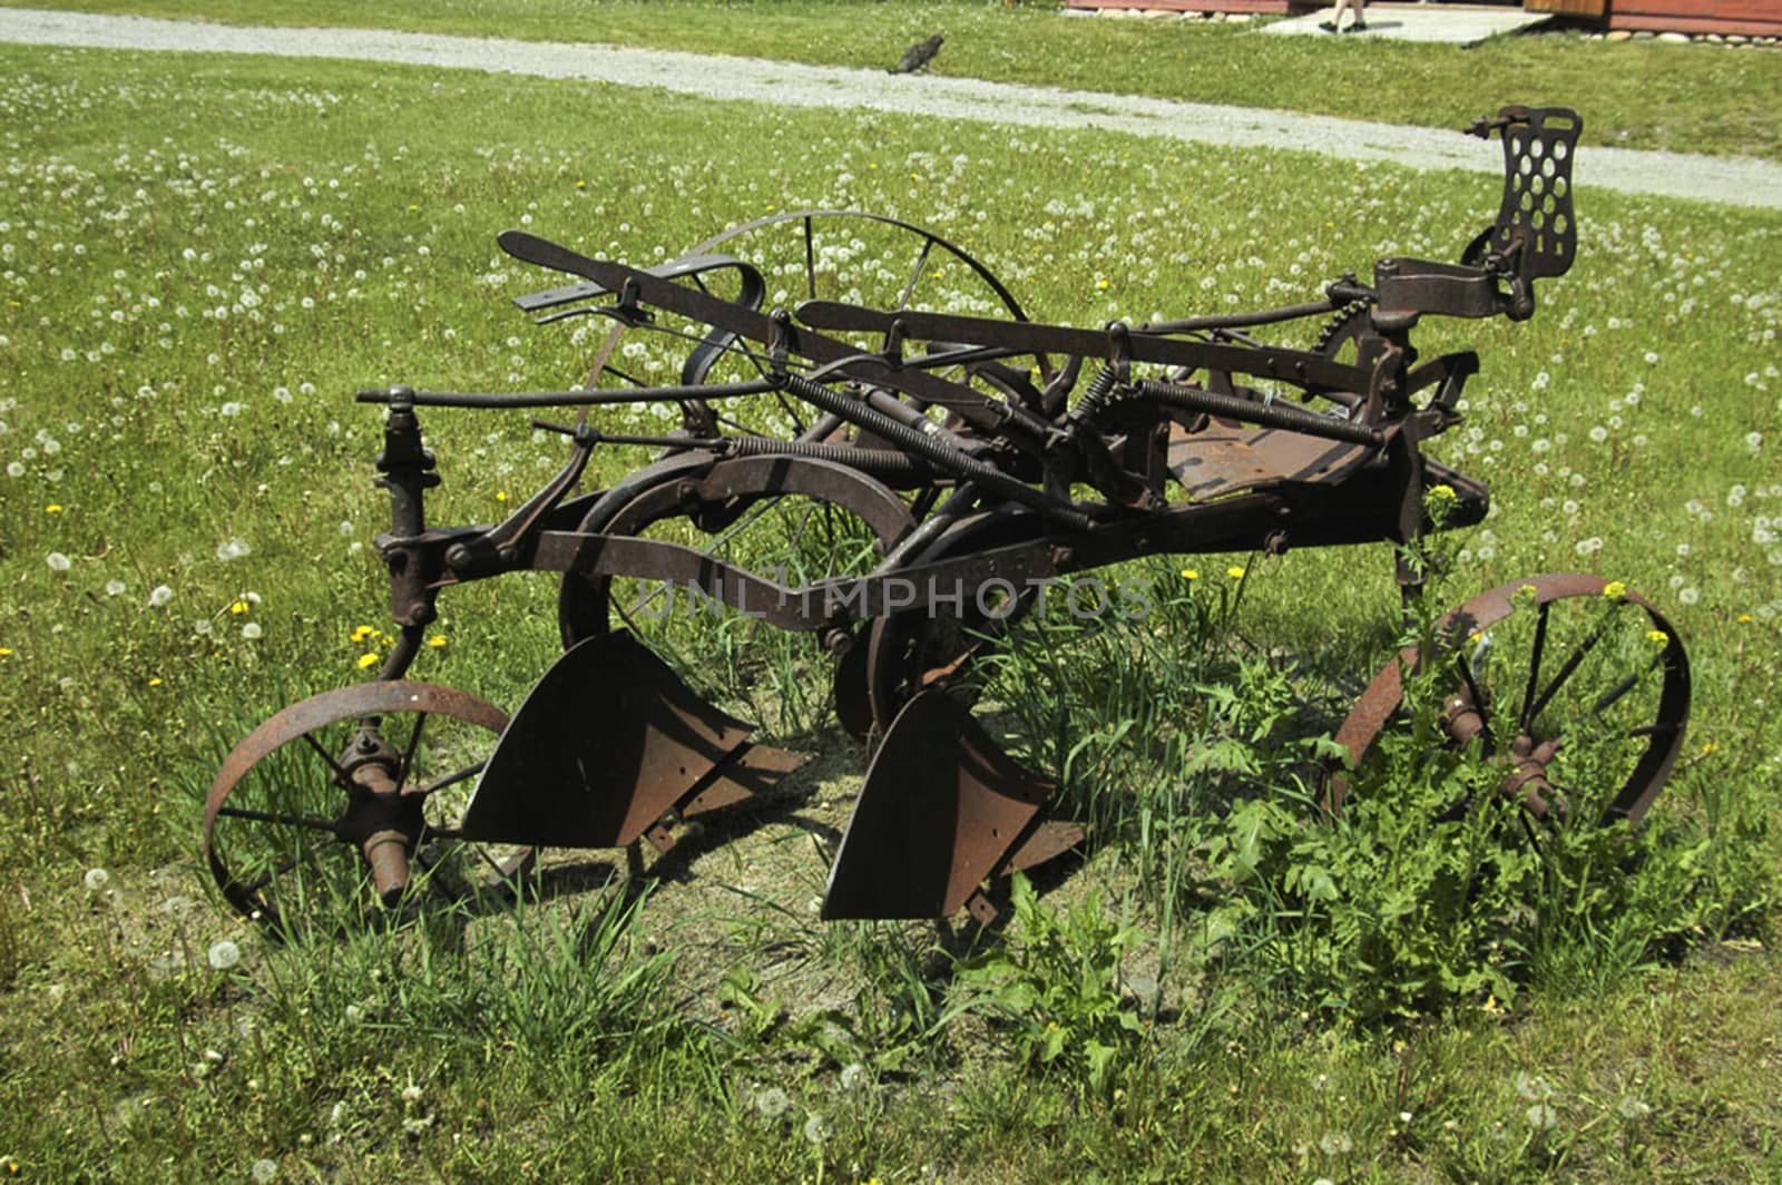
[[(681, 458), (620, 497), (602, 499), (581, 529), (683, 543), (802, 590), (871, 572), (914, 529), (914, 519), (895, 492), (834, 462), (750, 456), (702, 465)], [(814, 725), (832, 688), (850, 731), (864, 711), (864, 665), (838, 666), (832, 654), (854, 649), (850, 636), (720, 611), (672, 579), (572, 572), (558, 609), (565, 645), (627, 627), (711, 704), (759, 722), (768, 734)]]

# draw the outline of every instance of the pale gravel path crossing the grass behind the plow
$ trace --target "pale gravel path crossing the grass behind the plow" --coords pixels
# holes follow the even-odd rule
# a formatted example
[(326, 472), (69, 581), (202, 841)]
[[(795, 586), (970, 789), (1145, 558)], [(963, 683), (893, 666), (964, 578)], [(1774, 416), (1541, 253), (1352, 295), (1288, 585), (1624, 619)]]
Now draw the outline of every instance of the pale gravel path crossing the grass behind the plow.
[[(782, 107), (871, 109), (980, 123), (1101, 128), (1196, 144), (1290, 148), (1345, 160), (1390, 160), (1418, 169), (1502, 169), (1497, 144), (1438, 128), (608, 45), (442, 37), (376, 29), (264, 29), (39, 9), (0, 9), (0, 41), (406, 62), (661, 87), (679, 94)], [(1766, 160), (1591, 146), (1579, 153), (1574, 178), (1579, 185), (1632, 194), (1782, 208), (1782, 166)]]

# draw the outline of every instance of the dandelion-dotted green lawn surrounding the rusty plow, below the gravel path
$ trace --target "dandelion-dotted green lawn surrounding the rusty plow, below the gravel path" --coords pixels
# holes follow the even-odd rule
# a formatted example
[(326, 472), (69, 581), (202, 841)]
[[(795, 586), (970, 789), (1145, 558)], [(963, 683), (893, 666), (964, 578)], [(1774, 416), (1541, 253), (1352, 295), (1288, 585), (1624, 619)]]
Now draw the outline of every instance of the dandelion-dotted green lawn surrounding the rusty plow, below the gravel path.
[[(1484, 356), (1442, 453), (1497, 511), (1454, 536), (1445, 595), (1598, 570), (1652, 595), (1695, 663), (1654, 873), (1522, 902), (1552, 932), (1545, 960), (1497, 952), (1520, 968), (1506, 984), (1358, 1017), (1267, 960), (1340, 948), (1233, 912), (1258, 880), (1187, 886), (1224, 909), (1165, 927), (1099, 868), (1083, 880), (1101, 909), (1073, 882), (959, 968), (932, 932), (816, 923), (823, 862), (784, 820), (750, 848), (761, 871), (734, 870), (748, 896), (699, 898), (699, 918), (716, 873), (636, 912), (565, 895), (274, 946), (210, 893), (198, 804), (228, 745), (380, 649), (360, 629), (387, 615), (380, 421), (349, 392), (561, 385), (595, 346), (506, 305), (552, 278), (503, 257), (497, 230), (654, 260), (772, 210), (855, 205), (936, 226), (1035, 315), (1094, 324), (1452, 257), (1495, 185), (880, 116), (725, 110), (715, 135), (713, 107), (675, 98), (640, 134), (611, 89), (403, 68), (0, 59), (0, 707), (18, 738), (0, 766), (0, 1156), (20, 1178), (1777, 1176), (1773, 216), (1581, 194), (1577, 269), (1533, 323), (1420, 339)], [(1183, 201), (1183, 173), (1221, 196)], [(438, 522), (501, 515), (561, 460), (520, 413), (426, 428)], [(1353, 691), (1390, 652), (1383, 549), (1196, 563), (1249, 567), (1214, 642), (1265, 645), (1221, 674), (1272, 693), (1303, 665)], [(544, 579), (444, 611), (417, 675), (503, 706), (558, 645)], [(1281, 740), (1269, 720), (1251, 756)], [(862, 754), (820, 729), (805, 740), (836, 780), (813, 793), (839, 800)], [(1203, 859), (1230, 838), (1205, 827), (1183, 832)], [(1342, 893), (1370, 900), (1360, 879)], [(1518, 927), (1502, 932), (1541, 930)], [(706, 944), (665, 937), (688, 932)], [(1151, 955), (1165, 934), (1173, 973)], [(1140, 955), (1173, 1007), (1126, 1000)]]

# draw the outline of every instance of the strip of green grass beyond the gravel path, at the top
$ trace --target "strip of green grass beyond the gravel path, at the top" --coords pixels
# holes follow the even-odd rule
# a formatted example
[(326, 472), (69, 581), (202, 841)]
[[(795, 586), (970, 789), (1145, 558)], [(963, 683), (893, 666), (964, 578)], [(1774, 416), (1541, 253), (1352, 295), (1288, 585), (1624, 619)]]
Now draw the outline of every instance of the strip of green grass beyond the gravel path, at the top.
[(1465, 127), (1502, 103), (1588, 112), (1584, 141), (1782, 159), (1775, 53), (1579, 36), (1495, 37), (1463, 50), (1392, 41), (1263, 37), (1237, 25), (1064, 18), (982, 0), (864, 9), (850, 0), (68, 0), (37, 5), (266, 25), (388, 27), (549, 41), (613, 41), (834, 66), (889, 68), (948, 37), (939, 75)]

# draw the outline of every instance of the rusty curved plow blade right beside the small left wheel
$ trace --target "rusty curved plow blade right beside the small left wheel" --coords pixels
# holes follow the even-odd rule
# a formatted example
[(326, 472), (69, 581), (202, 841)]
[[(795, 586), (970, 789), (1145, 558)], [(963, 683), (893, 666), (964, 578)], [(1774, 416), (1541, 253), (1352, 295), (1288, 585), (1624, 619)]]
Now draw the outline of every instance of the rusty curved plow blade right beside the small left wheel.
[(674, 846), (665, 816), (750, 798), (804, 757), (748, 740), (754, 725), (695, 695), (627, 631), (568, 649), (488, 757), (463, 816), (478, 843)]

